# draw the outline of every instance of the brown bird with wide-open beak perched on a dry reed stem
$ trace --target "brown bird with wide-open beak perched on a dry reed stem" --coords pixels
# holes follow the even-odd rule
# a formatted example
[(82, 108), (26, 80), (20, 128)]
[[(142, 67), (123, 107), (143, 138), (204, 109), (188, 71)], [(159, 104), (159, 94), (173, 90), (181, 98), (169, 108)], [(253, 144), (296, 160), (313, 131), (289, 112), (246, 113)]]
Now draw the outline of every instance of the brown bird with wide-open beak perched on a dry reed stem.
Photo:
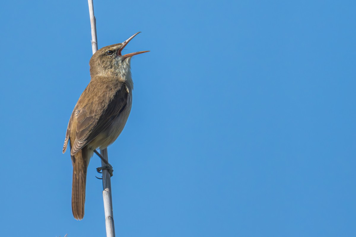
[(69, 119), (63, 153), (69, 141), (73, 165), (72, 212), (77, 220), (84, 217), (89, 160), (95, 149), (105, 149), (116, 140), (131, 111), (133, 82), (130, 60), (133, 55), (149, 51), (125, 55), (121, 55), (121, 51), (138, 33), (93, 54), (89, 61), (91, 80)]

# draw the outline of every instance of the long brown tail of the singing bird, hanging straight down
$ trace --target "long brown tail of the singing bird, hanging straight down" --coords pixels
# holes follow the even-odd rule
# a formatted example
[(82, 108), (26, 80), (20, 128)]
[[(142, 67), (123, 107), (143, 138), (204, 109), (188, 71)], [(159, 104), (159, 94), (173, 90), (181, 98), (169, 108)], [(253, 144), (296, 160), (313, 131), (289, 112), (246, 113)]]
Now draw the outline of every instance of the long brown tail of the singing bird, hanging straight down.
[(82, 220), (84, 217), (85, 183), (87, 182), (87, 169), (92, 154), (93, 152), (84, 147), (72, 156), (72, 212), (77, 220)]

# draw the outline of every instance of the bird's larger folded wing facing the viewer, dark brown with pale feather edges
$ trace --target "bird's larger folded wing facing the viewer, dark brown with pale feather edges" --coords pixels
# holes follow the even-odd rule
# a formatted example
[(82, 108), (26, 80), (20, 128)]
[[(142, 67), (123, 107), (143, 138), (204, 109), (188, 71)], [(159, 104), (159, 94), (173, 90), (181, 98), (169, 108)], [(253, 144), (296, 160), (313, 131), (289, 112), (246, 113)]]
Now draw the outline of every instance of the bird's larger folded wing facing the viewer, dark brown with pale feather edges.
[[(77, 126), (75, 127), (75, 140), (70, 155), (77, 153), (83, 146), (87, 145), (94, 140), (96, 136), (105, 131), (112, 121), (126, 108), (128, 98), (129, 92), (126, 90), (126, 85), (122, 83), (120, 89), (116, 91), (111, 101), (107, 103), (107, 106), (101, 105), (105, 106), (104, 109), (96, 111), (96, 113), (93, 112), (93, 109), (88, 108), (89, 106), (74, 109), (72, 117), (76, 117)], [(90, 107), (95, 107), (95, 105), (91, 104)], [(100, 106), (96, 108), (100, 108)], [(101, 115), (99, 116), (98, 114), (100, 113)], [(73, 138), (70, 139), (72, 140)]]

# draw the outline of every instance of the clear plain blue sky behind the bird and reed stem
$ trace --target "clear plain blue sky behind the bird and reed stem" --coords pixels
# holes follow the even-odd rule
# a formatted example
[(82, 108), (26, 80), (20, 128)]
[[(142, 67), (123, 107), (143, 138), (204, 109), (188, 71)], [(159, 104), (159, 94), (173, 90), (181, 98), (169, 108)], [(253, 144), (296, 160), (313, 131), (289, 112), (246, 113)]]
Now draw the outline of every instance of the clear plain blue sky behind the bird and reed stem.
[[(356, 236), (355, 1), (94, 1), (99, 48), (142, 31), (109, 147), (116, 236)], [(2, 236), (105, 236), (62, 154), (87, 86), (87, 1), (4, 1)]]

